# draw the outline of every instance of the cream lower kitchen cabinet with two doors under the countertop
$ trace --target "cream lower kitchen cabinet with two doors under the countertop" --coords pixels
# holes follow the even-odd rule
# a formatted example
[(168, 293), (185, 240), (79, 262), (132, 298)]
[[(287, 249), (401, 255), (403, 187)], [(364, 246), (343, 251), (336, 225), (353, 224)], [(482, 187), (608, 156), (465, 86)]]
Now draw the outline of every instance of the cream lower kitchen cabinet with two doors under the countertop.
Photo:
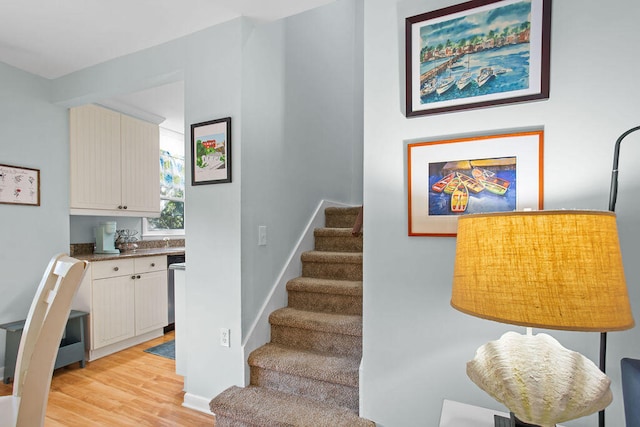
[(89, 360), (162, 335), (168, 323), (166, 256), (89, 265), (74, 303), (89, 312)]

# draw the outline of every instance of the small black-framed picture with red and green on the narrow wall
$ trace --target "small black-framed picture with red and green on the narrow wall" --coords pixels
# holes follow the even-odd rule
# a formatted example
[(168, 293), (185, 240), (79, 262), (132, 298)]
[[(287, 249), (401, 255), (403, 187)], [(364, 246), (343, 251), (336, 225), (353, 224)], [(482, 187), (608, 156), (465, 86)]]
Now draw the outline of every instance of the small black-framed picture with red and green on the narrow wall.
[(191, 184), (231, 182), (231, 117), (191, 125)]

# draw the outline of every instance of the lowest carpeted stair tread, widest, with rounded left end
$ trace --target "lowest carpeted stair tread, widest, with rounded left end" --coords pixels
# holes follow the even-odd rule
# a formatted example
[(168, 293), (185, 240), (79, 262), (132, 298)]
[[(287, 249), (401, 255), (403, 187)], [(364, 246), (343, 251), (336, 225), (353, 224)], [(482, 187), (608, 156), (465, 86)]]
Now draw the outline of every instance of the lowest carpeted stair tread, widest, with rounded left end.
[(215, 397), (209, 407), (216, 418), (231, 418), (239, 422), (237, 425), (375, 427), (375, 423), (348, 409), (264, 387), (230, 387)]

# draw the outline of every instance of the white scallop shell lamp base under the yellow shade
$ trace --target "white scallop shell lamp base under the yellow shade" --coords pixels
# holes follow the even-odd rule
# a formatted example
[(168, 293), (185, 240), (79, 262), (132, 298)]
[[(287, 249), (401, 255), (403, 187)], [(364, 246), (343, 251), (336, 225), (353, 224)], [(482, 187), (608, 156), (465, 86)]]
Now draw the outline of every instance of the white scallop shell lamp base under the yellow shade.
[(598, 412), (613, 399), (609, 377), (547, 334), (505, 333), (476, 351), (467, 375), (518, 419), (542, 427)]

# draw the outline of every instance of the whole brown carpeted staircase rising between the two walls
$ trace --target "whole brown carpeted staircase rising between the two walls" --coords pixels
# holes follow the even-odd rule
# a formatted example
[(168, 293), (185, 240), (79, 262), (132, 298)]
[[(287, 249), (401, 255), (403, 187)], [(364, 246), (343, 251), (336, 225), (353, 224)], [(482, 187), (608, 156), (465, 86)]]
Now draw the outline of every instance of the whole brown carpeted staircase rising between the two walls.
[(288, 306), (271, 313), (271, 342), (249, 355), (250, 385), (210, 403), (216, 427), (367, 426), (358, 416), (362, 358), (362, 236), (358, 208), (327, 208)]

